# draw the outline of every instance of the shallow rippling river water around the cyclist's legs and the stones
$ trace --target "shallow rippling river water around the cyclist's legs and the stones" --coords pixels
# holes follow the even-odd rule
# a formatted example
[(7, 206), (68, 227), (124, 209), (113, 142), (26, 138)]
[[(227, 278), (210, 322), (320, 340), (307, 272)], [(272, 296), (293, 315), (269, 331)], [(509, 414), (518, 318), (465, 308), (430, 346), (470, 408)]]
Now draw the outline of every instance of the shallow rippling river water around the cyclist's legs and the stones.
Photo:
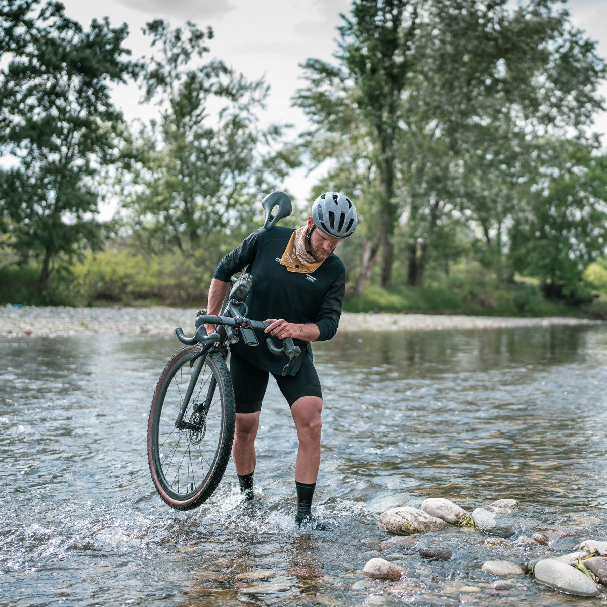
[[(512, 578), (517, 563), (607, 540), (607, 327), (351, 333), (314, 348), (324, 385), (315, 510), (293, 524), (296, 435), (272, 385), (257, 499), (230, 463), (191, 512), (160, 501), (146, 459), (155, 382), (176, 339), (0, 339), (1, 605), (599, 605)], [(515, 498), (517, 536), (450, 527), (381, 548), (377, 520), (444, 497)], [(548, 547), (515, 544), (543, 532)], [(448, 561), (419, 549), (444, 546)], [(378, 552), (379, 551), (379, 552)], [(408, 570), (363, 582), (381, 555)]]

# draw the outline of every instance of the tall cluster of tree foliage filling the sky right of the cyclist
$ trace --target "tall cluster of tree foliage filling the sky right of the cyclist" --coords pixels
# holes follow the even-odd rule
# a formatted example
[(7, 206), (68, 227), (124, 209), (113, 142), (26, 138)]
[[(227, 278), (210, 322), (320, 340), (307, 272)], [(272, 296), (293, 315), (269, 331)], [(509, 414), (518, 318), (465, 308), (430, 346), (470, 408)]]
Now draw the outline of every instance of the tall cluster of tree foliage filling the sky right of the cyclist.
[(336, 63), (308, 59), (294, 101), (313, 123), (311, 163), (330, 160), (335, 183), (358, 171), (359, 198), (373, 201), (361, 205), (373, 229), (359, 291), (379, 255), (390, 283), (395, 243), (421, 284), (463, 231), (470, 253), (512, 276), (514, 229), (540, 212), (554, 141), (595, 154), (595, 43), (552, 0), (354, 0), (344, 21)]

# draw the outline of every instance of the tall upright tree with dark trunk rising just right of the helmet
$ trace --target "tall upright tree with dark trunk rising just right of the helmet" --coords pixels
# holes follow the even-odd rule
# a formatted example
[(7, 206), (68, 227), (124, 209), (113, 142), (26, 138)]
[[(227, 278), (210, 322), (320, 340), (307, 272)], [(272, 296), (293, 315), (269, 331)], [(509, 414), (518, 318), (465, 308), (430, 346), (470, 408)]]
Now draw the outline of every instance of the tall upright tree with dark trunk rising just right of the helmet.
[[(305, 134), (314, 160), (339, 160), (346, 172), (367, 175), (373, 195), (375, 234), (365, 231), (361, 276), (381, 254), (381, 282), (390, 283), (393, 234), (399, 217), (398, 149), (402, 136), (402, 95), (412, 72), (417, 9), (409, 0), (355, 0), (351, 18), (342, 15), (341, 41), (334, 67), (318, 59), (305, 63), (308, 86), (295, 98), (315, 130)], [(350, 146), (350, 149), (348, 149)], [(343, 181), (337, 180), (342, 187)], [(347, 181), (347, 180), (346, 180)], [(363, 286), (359, 282), (359, 289)]]

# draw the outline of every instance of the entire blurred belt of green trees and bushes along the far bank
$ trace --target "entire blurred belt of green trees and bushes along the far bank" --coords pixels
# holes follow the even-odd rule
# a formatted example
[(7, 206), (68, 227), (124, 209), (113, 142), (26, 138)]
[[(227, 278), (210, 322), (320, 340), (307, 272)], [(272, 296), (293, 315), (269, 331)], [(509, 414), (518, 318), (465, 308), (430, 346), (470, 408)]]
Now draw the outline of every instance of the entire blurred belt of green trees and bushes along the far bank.
[[(205, 305), (304, 163), (310, 200), (359, 213), (346, 309), (605, 316), (607, 68), (559, 2), (353, 0), (336, 62), (303, 66), (297, 141), (262, 125), (263, 80), (210, 58), (211, 27), (151, 21), (133, 63), (126, 25), (39, 5), (0, 0), (2, 302)], [(158, 118), (128, 127), (109, 87), (135, 77)]]

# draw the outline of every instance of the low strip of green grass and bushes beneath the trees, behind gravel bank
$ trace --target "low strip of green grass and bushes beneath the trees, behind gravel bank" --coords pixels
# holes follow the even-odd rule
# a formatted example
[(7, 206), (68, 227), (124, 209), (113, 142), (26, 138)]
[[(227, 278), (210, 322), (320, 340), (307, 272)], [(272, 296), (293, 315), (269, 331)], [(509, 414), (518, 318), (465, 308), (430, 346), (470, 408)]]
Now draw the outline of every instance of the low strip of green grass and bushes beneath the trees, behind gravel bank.
[[(26, 305), (191, 305), (203, 306), (214, 265), (166, 253), (143, 256), (108, 250), (52, 275), (49, 288), (38, 291), (35, 264), (0, 266), (0, 304)], [(474, 316), (577, 316), (607, 319), (607, 271), (593, 268), (594, 285), (605, 285), (592, 304), (571, 307), (547, 300), (529, 280), (498, 283), (475, 265), (456, 267), (448, 279), (427, 277), (427, 285), (410, 287), (395, 273), (394, 285), (370, 284), (364, 296), (344, 301), (348, 312), (466, 314)]]

